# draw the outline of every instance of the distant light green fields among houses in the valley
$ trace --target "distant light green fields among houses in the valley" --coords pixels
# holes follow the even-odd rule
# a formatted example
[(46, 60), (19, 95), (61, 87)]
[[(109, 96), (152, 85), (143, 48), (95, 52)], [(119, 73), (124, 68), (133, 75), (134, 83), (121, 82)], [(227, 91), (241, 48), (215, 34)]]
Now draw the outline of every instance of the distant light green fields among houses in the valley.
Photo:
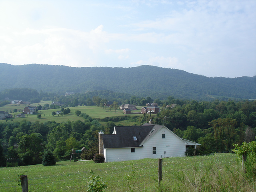
[[(50, 104), (51, 101), (44, 102), (44, 103)], [(38, 104), (41, 104), (43, 106), (44, 103), (31, 104), (31, 106), (38, 106)], [(10, 110), (13, 111), (15, 108), (16, 109), (24, 109), (26, 106), (28, 106), (28, 105), (25, 105), (25, 104), (20, 104), (20, 105), (8, 104), (6, 106), (0, 107), (0, 110), (2, 110), (2, 111), (7, 111), (8, 110), (10, 112)], [(138, 109), (141, 109), (141, 107), (138, 107)], [(114, 116), (124, 116), (122, 110), (118, 110), (117, 113), (116, 113), (115, 110), (113, 110), (113, 109), (110, 111), (109, 108), (105, 109), (105, 108), (97, 107), (97, 106), (70, 107), (70, 111), (71, 111), (70, 114), (67, 114), (67, 115), (64, 115), (64, 116), (61, 116), (61, 115), (52, 116), (52, 112), (53, 111), (56, 112), (57, 110), (60, 110), (60, 109), (40, 110), (36, 114), (26, 114), (25, 118), (12, 118), (12, 120), (14, 122), (20, 122), (24, 119), (26, 119), (30, 122), (35, 122), (35, 121), (47, 122), (47, 121), (52, 121), (52, 120), (54, 120), (56, 122), (76, 121), (76, 120), (83, 121), (84, 118), (82, 118), (80, 116), (78, 117), (78, 116), (75, 115), (75, 113), (74, 113), (75, 110), (80, 110), (82, 113), (86, 113), (90, 117), (96, 118), (96, 119), (102, 119), (102, 118), (105, 118), (105, 117), (114, 117)], [(137, 110), (137, 111), (139, 112), (139, 110)], [(10, 113), (10, 114), (12, 114), (14, 116), (14, 114), (17, 115), (17, 114), (20, 114), (20, 113), (21, 112)], [(38, 114), (41, 114), (42, 117), (37, 118)], [(136, 115), (136, 116), (138, 116), (138, 115)], [(4, 120), (0, 120), (0, 122), (1, 121), (4, 121)], [(124, 121), (124, 122), (121, 122), (121, 123), (123, 125), (132, 125), (133, 124), (132, 122), (127, 122), (127, 121)]]

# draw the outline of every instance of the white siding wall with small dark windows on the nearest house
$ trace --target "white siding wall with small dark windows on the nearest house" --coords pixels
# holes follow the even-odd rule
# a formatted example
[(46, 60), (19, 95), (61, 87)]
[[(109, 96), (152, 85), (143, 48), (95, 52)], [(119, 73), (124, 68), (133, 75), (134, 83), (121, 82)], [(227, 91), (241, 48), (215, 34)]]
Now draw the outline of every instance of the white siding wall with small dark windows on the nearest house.
[[(165, 138), (162, 138), (162, 134), (165, 134)], [(152, 153), (153, 147), (156, 147), (156, 154)], [(185, 142), (170, 130), (162, 128), (145, 141), (143, 147), (135, 148), (135, 152), (131, 152), (131, 148), (108, 148), (104, 149), (104, 156), (106, 162), (113, 162), (142, 158), (185, 156), (185, 151)]]

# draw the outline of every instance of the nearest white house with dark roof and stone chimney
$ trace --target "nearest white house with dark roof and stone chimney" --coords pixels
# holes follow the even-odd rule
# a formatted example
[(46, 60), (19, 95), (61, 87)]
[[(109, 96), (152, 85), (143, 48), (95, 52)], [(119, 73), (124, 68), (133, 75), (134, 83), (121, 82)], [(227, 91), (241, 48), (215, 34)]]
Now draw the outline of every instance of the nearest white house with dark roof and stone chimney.
[(185, 156), (186, 146), (200, 144), (182, 139), (163, 125), (115, 126), (112, 134), (99, 132), (99, 153), (106, 162)]

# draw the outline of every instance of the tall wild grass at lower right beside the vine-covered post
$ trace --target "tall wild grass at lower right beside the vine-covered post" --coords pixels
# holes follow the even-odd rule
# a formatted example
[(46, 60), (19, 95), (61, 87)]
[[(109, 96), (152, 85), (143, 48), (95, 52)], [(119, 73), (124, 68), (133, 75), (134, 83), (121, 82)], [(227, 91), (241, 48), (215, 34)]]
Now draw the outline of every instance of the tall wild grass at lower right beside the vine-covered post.
[(254, 192), (255, 184), (246, 180), (241, 173), (239, 160), (226, 164), (217, 158), (200, 164), (192, 162), (189, 168), (176, 169), (172, 172), (173, 178), (178, 181), (172, 189), (188, 192)]

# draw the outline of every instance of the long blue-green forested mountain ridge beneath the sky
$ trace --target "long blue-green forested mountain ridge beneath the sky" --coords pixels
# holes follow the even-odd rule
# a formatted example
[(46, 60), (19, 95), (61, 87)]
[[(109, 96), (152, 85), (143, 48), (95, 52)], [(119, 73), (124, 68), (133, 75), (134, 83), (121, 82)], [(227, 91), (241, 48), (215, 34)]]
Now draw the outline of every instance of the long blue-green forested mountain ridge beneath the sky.
[(38, 92), (64, 94), (110, 90), (139, 97), (168, 96), (208, 100), (208, 95), (256, 99), (256, 76), (208, 78), (182, 70), (139, 66), (133, 68), (51, 66), (0, 63), (0, 91), (32, 88)]

